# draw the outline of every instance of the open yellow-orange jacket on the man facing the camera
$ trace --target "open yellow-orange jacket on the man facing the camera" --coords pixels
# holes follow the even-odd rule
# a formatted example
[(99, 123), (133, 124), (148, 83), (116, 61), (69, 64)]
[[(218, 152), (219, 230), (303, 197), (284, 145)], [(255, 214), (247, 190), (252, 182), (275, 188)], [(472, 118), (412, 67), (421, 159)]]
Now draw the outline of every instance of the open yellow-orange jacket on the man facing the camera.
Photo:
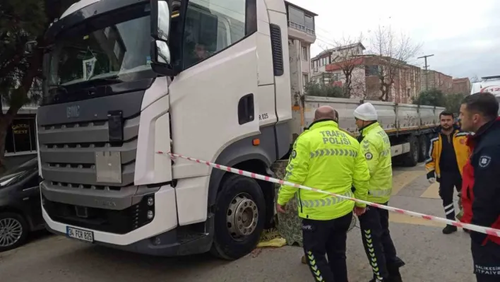
[[(458, 129), (453, 131), (453, 149), (455, 150), (455, 155), (457, 158), (458, 170), (460, 175), (462, 175), (463, 167), (467, 160), (469, 159), (470, 150), (467, 146), (467, 136), (468, 132), (463, 132)], [(449, 138), (449, 137), (448, 137)], [(436, 176), (436, 180), (441, 179), (441, 170), (439, 169), (439, 159), (441, 158), (441, 150), (443, 148), (443, 139), (441, 139), (441, 133), (438, 134), (436, 138), (431, 139), (431, 145), (429, 147), (429, 158), (425, 161), (425, 169), (427, 170), (427, 178)]]

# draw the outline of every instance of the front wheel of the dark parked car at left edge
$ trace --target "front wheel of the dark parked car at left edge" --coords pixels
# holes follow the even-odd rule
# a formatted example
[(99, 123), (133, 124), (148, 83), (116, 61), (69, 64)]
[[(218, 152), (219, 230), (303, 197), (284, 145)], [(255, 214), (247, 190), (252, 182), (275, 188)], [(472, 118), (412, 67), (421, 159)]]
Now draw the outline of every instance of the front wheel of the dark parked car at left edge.
[(28, 239), (28, 223), (18, 213), (0, 213), (0, 252), (16, 249)]

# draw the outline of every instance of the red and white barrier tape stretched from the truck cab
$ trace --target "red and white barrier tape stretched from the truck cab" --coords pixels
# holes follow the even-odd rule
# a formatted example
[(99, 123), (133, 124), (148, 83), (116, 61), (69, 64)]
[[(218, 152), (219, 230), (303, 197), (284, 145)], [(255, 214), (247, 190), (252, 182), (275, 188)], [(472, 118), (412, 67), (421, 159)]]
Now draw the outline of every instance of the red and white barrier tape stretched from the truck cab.
[(244, 170), (238, 170), (236, 168), (230, 168), (230, 167), (227, 167), (227, 166), (224, 166), (224, 165), (218, 165), (216, 163), (210, 163), (210, 162), (208, 162), (206, 160), (198, 160), (196, 158), (189, 158), (189, 157), (186, 157), (184, 155), (179, 155), (179, 154), (174, 154), (174, 153), (164, 153), (164, 152), (157, 152), (157, 153), (158, 154), (163, 154), (163, 155), (169, 155), (170, 157), (174, 157), (174, 158), (184, 158), (186, 160), (192, 160), (192, 161), (194, 161), (196, 163), (202, 163), (202, 164), (208, 165), (208, 166), (210, 166), (212, 168), (217, 168), (218, 170), (225, 170), (227, 172), (232, 172), (232, 173), (235, 173), (237, 175), (244, 175), (246, 177), (251, 177), (251, 178), (254, 178), (254, 179), (257, 179), (257, 180), (264, 180), (264, 181), (267, 181), (267, 182), (273, 182), (273, 183), (278, 183), (278, 184), (281, 184), (281, 185), (288, 185), (288, 186), (292, 186), (292, 187), (297, 187), (299, 189), (314, 191), (314, 192), (318, 192), (318, 193), (321, 193), (321, 194), (328, 194), (328, 195), (331, 195), (331, 196), (337, 196), (339, 198), (349, 199), (349, 200), (355, 201), (357, 203), (367, 204), (368, 206), (374, 206), (376, 208), (383, 208), (383, 209), (385, 209), (387, 211), (393, 211), (395, 213), (401, 213), (401, 214), (405, 214), (407, 216), (415, 216), (416, 218), (424, 218), (427, 221), (437, 221), (437, 222), (440, 222), (440, 223), (446, 223), (446, 224), (449, 224), (449, 225), (455, 225), (455, 226), (460, 227), (460, 228), (467, 228), (469, 230), (474, 230), (474, 231), (477, 231), (477, 232), (480, 232), (480, 233), (484, 233), (484, 234), (487, 234), (487, 235), (492, 235), (492, 236), (500, 237), (500, 230), (494, 229), (494, 228), (487, 228), (487, 227), (483, 227), (483, 226), (479, 226), (479, 225), (472, 225), (472, 224), (468, 224), (468, 223), (460, 223), (458, 221), (451, 221), (451, 220), (446, 219), (446, 218), (439, 218), (437, 216), (428, 216), (427, 214), (423, 214), (423, 213), (415, 213), (415, 211), (407, 211), (407, 210), (404, 210), (404, 209), (401, 209), (401, 208), (393, 208), (392, 206), (384, 206), (384, 205), (381, 205), (381, 204), (371, 203), (369, 201), (363, 201), (363, 200), (355, 199), (355, 198), (352, 198), (352, 197), (349, 197), (349, 196), (343, 196), (343, 195), (334, 194), (334, 193), (331, 193), (331, 192), (326, 192), (326, 191), (323, 191), (323, 190), (320, 190), (320, 189), (307, 187), (307, 186), (304, 186), (304, 185), (294, 184), (292, 182), (288, 182), (288, 181), (285, 181), (285, 180), (278, 180), (276, 178), (268, 177), (266, 175), (258, 175), (258, 174), (254, 173), (254, 172), (247, 172), (247, 171), (244, 171)]

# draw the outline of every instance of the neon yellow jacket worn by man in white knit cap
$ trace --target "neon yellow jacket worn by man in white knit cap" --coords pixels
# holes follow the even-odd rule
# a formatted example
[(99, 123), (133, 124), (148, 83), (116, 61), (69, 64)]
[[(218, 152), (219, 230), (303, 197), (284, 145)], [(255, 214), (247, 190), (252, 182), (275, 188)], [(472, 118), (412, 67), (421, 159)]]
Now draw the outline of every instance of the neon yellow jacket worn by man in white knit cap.
[[(391, 142), (378, 122), (361, 129), (361, 150), (370, 171), (368, 201), (385, 204), (393, 191)], [(357, 189), (357, 187), (355, 187)]]

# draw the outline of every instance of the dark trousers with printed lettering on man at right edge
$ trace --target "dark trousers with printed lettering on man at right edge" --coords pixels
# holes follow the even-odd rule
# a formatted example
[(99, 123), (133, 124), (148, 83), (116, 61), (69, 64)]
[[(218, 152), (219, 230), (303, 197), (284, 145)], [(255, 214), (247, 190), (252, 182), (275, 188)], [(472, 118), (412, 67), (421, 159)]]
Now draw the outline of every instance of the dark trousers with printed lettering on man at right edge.
[(500, 245), (487, 242), (482, 246), (472, 241), (470, 250), (477, 282), (500, 281)]

